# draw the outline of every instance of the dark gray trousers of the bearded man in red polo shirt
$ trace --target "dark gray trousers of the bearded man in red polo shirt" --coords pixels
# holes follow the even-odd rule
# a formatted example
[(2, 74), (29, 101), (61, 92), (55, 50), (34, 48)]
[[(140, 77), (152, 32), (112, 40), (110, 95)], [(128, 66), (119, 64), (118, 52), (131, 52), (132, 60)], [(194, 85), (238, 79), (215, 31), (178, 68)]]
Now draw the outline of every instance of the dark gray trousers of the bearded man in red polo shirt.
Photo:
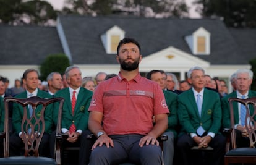
[(114, 147), (107, 148), (106, 145), (97, 146), (91, 153), (90, 165), (100, 164), (147, 164), (161, 165), (161, 148), (156, 145), (139, 146), (143, 135), (110, 135)]

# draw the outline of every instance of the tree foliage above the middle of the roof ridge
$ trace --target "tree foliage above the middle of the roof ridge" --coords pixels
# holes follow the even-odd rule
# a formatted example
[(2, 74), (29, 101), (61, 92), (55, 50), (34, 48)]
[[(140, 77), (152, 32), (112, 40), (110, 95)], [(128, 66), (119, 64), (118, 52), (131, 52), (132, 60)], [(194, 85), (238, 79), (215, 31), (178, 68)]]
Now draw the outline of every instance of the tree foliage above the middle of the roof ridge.
[(62, 14), (81, 15), (136, 15), (142, 17), (186, 17), (185, 0), (67, 0)]

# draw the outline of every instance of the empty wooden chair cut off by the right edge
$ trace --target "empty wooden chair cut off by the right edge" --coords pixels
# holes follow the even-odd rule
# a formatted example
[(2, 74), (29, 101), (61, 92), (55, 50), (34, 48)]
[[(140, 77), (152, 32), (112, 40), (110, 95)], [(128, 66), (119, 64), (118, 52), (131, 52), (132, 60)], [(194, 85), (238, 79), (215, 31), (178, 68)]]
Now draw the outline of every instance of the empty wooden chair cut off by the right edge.
[[(229, 163), (256, 163), (256, 97), (248, 99), (239, 99), (239, 98), (229, 98), (230, 106), (230, 119), (231, 119), (231, 128), (224, 129), (225, 132), (231, 132), (227, 136), (228, 145), (226, 149), (228, 150), (224, 156), (224, 163), (228, 165)], [(247, 148), (237, 148), (236, 146), (236, 130), (234, 128), (234, 108), (233, 104), (241, 103), (246, 107), (246, 117), (245, 123), (250, 122), (250, 125), (245, 125), (247, 132), (249, 133), (250, 146)], [(248, 107), (254, 108), (254, 113), (250, 114), (250, 109)], [(229, 143), (231, 146), (229, 147)], [(231, 148), (229, 150), (229, 148)]]

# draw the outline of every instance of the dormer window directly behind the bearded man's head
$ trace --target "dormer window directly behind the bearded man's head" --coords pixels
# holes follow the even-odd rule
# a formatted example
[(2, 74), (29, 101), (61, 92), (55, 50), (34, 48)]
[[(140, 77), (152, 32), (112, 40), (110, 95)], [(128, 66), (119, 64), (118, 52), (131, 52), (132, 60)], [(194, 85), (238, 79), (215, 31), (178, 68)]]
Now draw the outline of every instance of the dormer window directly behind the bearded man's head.
[(122, 38), (124, 38), (124, 30), (114, 25), (114, 27), (109, 28), (103, 35), (101, 35), (101, 41), (105, 48), (106, 53), (116, 54), (116, 48), (118, 43)]

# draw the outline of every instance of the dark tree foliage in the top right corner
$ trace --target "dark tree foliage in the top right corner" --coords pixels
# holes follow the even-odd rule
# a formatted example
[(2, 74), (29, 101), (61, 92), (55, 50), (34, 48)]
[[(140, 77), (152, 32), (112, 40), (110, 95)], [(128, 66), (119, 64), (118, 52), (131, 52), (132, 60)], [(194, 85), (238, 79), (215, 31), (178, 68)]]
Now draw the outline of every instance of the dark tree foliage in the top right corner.
[(228, 27), (256, 27), (255, 0), (198, 0), (201, 14), (206, 17), (221, 17)]

